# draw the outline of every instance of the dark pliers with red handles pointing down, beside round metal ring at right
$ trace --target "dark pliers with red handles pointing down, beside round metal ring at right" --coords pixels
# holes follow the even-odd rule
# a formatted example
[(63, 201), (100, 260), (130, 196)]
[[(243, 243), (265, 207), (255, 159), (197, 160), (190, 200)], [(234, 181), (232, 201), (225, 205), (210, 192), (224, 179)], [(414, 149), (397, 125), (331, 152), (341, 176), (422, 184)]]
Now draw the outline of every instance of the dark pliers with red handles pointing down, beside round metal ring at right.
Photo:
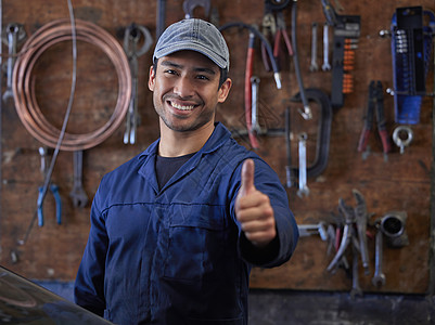
[(368, 151), (369, 135), (373, 129), (374, 116), (376, 116), (378, 121), (378, 133), (381, 138), (383, 153), (385, 159), (387, 159), (387, 154), (391, 152), (392, 146), (389, 143), (388, 132), (386, 130), (386, 121), (384, 115), (384, 92), (382, 88), (382, 82), (370, 81), (369, 84), (369, 99), (366, 113), (364, 127), (362, 129), (361, 135), (358, 143), (358, 152)]

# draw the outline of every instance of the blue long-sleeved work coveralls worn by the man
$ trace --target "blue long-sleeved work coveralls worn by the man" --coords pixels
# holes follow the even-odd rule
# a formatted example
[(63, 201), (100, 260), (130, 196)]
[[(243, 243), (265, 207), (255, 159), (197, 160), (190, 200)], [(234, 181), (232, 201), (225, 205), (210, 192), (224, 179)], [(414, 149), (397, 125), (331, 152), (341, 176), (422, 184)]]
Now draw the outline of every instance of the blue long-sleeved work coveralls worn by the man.
[[(252, 265), (287, 261), (297, 238), (276, 172), (239, 145), (220, 122), (206, 144), (158, 188), (158, 140), (103, 177), (75, 283), (79, 306), (116, 324), (247, 324)], [(246, 158), (270, 197), (278, 230), (272, 251), (244, 237), (234, 203)]]

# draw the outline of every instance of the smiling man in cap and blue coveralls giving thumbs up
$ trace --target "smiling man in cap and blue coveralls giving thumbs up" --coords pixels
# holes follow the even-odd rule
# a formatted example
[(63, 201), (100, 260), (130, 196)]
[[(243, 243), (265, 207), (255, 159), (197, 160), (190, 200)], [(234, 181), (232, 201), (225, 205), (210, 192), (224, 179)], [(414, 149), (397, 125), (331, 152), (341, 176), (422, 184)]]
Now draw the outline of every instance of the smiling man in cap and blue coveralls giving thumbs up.
[(102, 179), (76, 302), (117, 324), (247, 324), (252, 265), (284, 263), (298, 239), (285, 190), (215, 121), (231, 88), (216, 27), (169, 26), (153, 61), (161, 138)]

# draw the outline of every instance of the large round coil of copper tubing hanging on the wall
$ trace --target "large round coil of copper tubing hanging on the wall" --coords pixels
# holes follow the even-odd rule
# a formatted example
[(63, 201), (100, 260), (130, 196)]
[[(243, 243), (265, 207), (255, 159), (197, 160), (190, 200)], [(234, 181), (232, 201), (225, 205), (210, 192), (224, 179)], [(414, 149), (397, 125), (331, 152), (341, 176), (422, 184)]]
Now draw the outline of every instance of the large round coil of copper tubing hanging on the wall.
[[(61, 144), (63, 151), (79, 151), (93, 147), (106, 140), (123, 121), (130, 102), (131, 73), (127, 56), (116, 39), (103, 28), (76, 20), (76, 38), (99, 47), (113, 63), (118, 77), (118, 96), (111, 118), (100, 128), (82, 134), (65, 132)], [(55, 147), (61, 130), (52, 126), (43, 116), (35, 95), (31, 73), (36, 62), (50, 47), (72, 40), (69, 20), (53, 21), (38, 29), (23, 46), (15, 62), (13, 93), (15, 109), (27, 131), (41, 143)]]

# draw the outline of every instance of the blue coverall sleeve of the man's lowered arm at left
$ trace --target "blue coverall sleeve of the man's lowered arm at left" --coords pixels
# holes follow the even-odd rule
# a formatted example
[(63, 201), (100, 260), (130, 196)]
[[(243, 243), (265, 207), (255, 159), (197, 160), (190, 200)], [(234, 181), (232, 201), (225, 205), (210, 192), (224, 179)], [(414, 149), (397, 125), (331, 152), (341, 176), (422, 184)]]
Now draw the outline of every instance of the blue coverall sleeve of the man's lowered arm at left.
[(104, 315), (104, 266), (107, 253), (105, 220), (99, 208), (101, 186), (91, 207), (91, 227), (74, 285), (75, 302), (100, 315)]

